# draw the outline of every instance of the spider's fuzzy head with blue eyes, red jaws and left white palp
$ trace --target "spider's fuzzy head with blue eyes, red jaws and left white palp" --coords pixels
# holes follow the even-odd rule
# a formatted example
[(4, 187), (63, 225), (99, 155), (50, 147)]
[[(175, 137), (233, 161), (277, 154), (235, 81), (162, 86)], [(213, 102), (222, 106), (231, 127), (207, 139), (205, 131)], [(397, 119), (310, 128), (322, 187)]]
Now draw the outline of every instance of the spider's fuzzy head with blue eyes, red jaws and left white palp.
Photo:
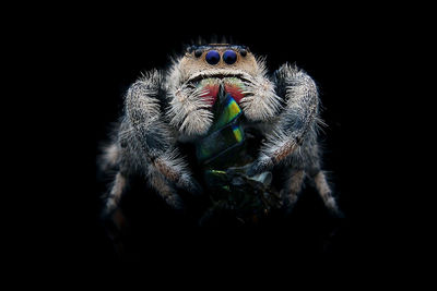
[(188, 135), (204, 134), (213, 122), (212, 109), (231, 96), (238, 105), (265, 73), (262, 59), (245, 46), (191, 46), (169, 71), (170, 123)]

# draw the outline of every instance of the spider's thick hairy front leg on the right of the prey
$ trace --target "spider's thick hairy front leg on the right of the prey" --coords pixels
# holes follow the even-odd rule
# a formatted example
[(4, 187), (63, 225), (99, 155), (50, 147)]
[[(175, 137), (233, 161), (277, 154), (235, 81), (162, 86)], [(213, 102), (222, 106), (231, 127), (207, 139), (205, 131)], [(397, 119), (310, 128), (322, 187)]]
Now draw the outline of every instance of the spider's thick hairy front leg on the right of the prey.
[(315, 131), (318, 122), (319, 97), (315, 82), (304, 71), (288, 64), (273, 75), (276, 93), (285, 106), (265, 135), (258, 159), (249, 170), (256, 174), (270, 170), (298, 150)]

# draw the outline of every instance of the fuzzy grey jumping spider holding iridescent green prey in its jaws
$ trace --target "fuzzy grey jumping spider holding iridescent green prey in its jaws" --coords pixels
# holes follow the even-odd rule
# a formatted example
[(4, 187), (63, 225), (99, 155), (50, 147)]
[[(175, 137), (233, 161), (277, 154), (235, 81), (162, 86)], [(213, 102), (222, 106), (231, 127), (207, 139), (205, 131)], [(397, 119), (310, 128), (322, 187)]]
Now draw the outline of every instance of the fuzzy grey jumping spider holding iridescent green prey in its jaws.
[[(209, 165), (210, 173), (237, 168), (265, 185), (265, 173), (280, 169), (281, 205), (287, 209), (308, 177), (328, 209), (339, 214), (320, 169), (321, 122), (317, 86), (295, 65), (285, 63), (268, 75), (264, 59), (248, 47), (188, 47), (167, 72), (147, 72), (128, 89), (125, 114), (102, 163), (118, 169), (105, 211), (117, 209), (132, 175), (143, 177), (172, 207), (184, 208), (178, 190), (201, 193), (204, 179), (200, 183), (192, 168)], [(261, 140), (253, 158), (241, 161), (243, 154), (233, 150), (250, 140), (250, 132)], [(198, 165), (188, 163), (180, 144), (197, 148)]]

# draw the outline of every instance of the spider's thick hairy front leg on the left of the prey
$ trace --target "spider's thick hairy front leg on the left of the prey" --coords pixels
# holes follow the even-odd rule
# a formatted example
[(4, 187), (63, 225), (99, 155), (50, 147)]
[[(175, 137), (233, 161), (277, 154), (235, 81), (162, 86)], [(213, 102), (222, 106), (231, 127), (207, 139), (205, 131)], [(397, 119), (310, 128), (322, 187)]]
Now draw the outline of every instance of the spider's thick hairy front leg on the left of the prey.
[(144, 168), (153, 167), (168, 182), (190, 193), (198, 193), (198, 183), (176, 147), (176, 137), (164, 122), (162, 107), (163, 80), (153, 71), (135, 82), (126, 97), (126, 113), (134, 142), (144, 156)]

